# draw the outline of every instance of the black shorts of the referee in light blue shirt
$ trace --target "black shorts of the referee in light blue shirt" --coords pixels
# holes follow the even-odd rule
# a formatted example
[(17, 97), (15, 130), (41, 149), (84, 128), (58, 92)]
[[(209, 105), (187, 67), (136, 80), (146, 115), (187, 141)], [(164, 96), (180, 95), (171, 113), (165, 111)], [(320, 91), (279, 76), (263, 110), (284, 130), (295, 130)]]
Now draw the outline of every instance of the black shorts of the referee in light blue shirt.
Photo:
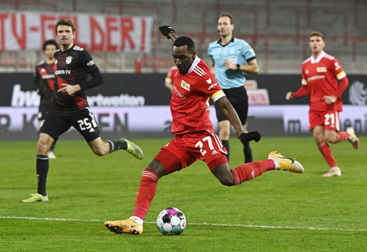
[[(232, 104), (233, 108), (236, 110), (241, 124), (246, 124), (248, 112), (248, 97), (246, 88), (244, 86), (240, 86), (239, 88), (223, 89), (223, 92), (229, 102)], [(215, 112), (217, 113), (218, 122), (228, 120), (217, 103), (215, 103)]]

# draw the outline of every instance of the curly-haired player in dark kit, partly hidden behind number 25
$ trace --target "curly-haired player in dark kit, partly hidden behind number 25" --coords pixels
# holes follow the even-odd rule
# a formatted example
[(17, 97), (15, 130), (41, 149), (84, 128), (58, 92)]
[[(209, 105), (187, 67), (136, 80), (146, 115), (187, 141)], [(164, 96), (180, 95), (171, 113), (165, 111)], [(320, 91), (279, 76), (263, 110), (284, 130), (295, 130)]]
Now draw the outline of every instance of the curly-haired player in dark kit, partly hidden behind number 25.
[[(55, 85), (55, 71), (54, 64), (55, 58), (54, 53), (59, 49), (55, 40), (47, 40), (43, 43), (43, 53), (46, 55), (46, 60), (43, 60), (36, 64), (36, 71), (34, 72), (34, 89), (40, 95), (40, 106), (38, 108), (37, 118), (39, 125), (46, 116), (47, 111), (50, 109), (50, 102), (52, 93), (54, 92)], [(50, 151), (47, 153), (49, 159), (56, 158), (54, 153), (55, 148), (54, 142), (51, 145)]]

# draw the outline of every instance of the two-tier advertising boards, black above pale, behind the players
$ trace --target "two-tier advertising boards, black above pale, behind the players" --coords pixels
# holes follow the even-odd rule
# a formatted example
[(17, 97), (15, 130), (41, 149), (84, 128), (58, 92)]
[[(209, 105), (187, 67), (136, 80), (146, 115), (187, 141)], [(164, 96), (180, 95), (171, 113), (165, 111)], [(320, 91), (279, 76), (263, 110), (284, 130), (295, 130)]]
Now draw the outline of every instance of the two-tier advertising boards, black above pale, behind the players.
[[(34, 91), (32, 74), (2, 74), (0, 80), (0, 140), (37, 138), (39, 95)], [(103, 137), (171, 136), (170, 90), (164, 87), (164, 74), (103, 74), (105, 84), (87, 90), (88, 102)], [(357, 134), (367, 134), (367, 77), (348, 75), (350, 85), (343, 94), (344, 111), (340, 113), (341, 130), (354, 127)], [(286, 101), (289, 90), (300, 86), (298, 75), (249, 75), (258, 89), (250, 105), (248, 128), (263, 135), (305, 135), (308, 130), (308, 99)], [(258, 90), (258, 92), (256, 91)], [(265, 91), (266, 95), (265, 95)], [(262, 95), (262, 96), (261, 96)], [(257, 104), (259, 104), (257, 103)], [(217, 129), (215, 109), (210, 118)], [(62, 138), (81, 136), (70, 129)]]

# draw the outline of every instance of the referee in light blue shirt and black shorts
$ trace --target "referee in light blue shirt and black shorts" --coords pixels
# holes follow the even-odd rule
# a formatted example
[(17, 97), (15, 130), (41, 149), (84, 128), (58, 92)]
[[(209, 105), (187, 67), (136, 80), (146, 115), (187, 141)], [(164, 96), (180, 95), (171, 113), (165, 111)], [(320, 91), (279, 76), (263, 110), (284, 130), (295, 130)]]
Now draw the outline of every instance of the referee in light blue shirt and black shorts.
[[(219, 85), (235, 108), (243, 128), (246, 130), (248, 98), (244, 88), (246, 78), (243, 72), (257, 74), (259, 67), (255, 59), (254, 49), (245, 40), (233, 38), (232, 31), (234, 28), (230, 14), (219, 16), (218, 32), (221, 39), (209, 44), (208, 56), (213, 61), (210, 67), (211, 72), (215, 74)], [(247, 64), (245, 64), (245, 61), (247, 61)], [(229, 162), (230, 123), (217, 104), (215, 104), (215, 111), (219, 122), (219, 138), (228, 151), (226, 156)], [(236, 132), (236, 136), (240, 136), (238, 132)], [(243, 152), (245, 163), (252, 162), (250, 143), (244, 143)]]

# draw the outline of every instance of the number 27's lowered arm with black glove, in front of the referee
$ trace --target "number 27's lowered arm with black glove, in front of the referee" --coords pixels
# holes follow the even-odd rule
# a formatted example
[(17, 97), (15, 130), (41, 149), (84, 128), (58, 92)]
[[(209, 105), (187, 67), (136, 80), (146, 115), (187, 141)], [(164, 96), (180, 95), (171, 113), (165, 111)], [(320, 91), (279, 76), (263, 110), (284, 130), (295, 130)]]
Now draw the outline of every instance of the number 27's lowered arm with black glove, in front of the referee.
[(237, 134), (239, 134), (237, 135), (237, 137), (239, 137), (242, 142), (250, 142), (252, 140), (255, 140), (255, 142), (260, 141), (261, 134), (258, 131), (252, 131), (248, 133), (245, 132), (245, 129), (241, 124), (240, 118), (238, 117), (236, 110), (233, 109), (232, 104), (230, 104), (225, 96), (217, 100), (216, 103), (222, 109), (230, 124), (235, 127)]

